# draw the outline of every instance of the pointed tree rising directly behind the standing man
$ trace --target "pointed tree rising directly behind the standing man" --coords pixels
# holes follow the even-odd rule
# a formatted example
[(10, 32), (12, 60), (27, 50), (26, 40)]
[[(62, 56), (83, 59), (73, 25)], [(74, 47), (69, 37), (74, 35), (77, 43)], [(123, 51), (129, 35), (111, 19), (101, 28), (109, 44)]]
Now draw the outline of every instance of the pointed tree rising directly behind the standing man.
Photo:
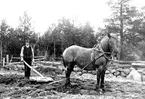
[[(35, 48), (38, 42), (38, 34), (35, 33), (31, 26), (31, 17), (24, 12), (24, 16), (20, 17), (20, 25), (14, 29), (9, 27), (7, 33), (7, 53), (12, 56), (20, 56), (21, 47), (24, 45), (25, 39), (30, 39), (32, 47)], [(9, 40), (8, 40), (9, 39)], [(35, 50), (34, 50), (35, 51)], [(35, 53), (36, 55), (36, 53)]]

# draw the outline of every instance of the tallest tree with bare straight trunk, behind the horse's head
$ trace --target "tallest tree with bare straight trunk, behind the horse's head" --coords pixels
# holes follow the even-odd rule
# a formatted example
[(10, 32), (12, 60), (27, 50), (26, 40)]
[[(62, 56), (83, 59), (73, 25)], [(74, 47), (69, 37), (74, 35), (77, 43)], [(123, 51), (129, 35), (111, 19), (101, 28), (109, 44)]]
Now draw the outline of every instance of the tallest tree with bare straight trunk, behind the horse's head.
[[(105, 22), (106, 29), (108, 32), (119, 33), (120, 35), (120, 59), (124, 59), (126, 55), (125, 46), (128, 45), (128, 41), (131, 41), (131, 37), (135, 35), (130, 31), (132, 26), (135, 26), (132, 23), (138, 16), (138, 10), (136, 7), (131, 7), (129, 5), (131, 0), (110, 0), (108, 3), (111, 7), (113, 13), (111, 18), (108, 18)], [(132, 47), (132, 45), (130, 46)]]

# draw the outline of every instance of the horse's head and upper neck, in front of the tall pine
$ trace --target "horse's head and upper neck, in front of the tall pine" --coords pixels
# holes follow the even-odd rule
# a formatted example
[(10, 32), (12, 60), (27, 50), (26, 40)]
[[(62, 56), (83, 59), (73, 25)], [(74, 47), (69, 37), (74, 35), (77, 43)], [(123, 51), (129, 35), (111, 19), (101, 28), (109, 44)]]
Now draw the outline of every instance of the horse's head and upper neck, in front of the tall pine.
[(108, 33), (106, 37), (101, 40), (101, 46), (104, 52), (110, 52), (113, 56), (117, 57), (119, 50), (120, 42), (115, 35)]

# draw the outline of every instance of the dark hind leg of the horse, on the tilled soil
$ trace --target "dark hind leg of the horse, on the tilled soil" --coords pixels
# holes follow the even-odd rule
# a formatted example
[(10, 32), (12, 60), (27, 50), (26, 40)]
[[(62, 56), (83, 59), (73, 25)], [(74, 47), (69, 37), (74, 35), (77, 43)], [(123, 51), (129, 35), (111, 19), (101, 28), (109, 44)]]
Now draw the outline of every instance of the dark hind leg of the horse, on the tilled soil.
[(73, 62), (69, 63), (66, 70), (66, 83), (65, 83), (66, 86), (70, 85), (70, 75), (71, 72), (73, 71), (73, 68), (74, 68), (74, 63)]

